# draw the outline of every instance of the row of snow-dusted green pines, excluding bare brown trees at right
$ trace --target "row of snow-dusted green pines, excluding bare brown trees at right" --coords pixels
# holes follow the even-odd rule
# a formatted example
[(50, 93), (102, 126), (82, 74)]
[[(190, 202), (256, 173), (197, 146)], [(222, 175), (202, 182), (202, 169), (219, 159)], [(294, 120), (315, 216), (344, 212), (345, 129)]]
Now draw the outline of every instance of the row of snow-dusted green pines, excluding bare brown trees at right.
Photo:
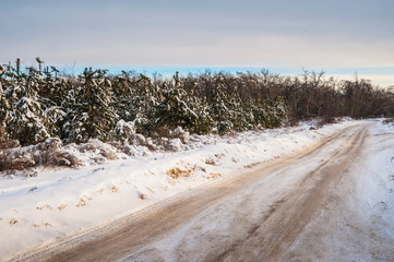
[(0, 142), (35, 144), (50, 136), (63, 142), (122, 140), (130, 132), (158, 135), (182, 127), (193, 133), (243, 131), (277, 127), (288, 110), (279, 99), (242, 99), (220, 78), (204, 95), (186, 79), (150, 79), (123, 71), (85, 69), (61, 75), (55, 67), (21, 70), (20, 60), (0, 68)]

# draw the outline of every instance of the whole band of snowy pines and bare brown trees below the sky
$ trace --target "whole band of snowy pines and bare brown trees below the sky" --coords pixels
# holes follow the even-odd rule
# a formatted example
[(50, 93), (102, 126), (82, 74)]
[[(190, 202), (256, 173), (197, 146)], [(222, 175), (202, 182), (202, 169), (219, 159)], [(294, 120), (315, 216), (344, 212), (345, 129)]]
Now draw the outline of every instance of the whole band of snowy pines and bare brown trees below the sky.
[[(0, 144), (60, 138), (64, 143), (122, 141), (130, 132), (165, 135), (274, 128), (315, 117), (393, 117), (394, 94), (369, 81), (335, 81), (323, 73), (283, 76), (213, 73), (171, 79), (92, 68), (64, 75), (55, 67), (0, 67)], [(0, 146), (1, 147), (1, 146)]]

